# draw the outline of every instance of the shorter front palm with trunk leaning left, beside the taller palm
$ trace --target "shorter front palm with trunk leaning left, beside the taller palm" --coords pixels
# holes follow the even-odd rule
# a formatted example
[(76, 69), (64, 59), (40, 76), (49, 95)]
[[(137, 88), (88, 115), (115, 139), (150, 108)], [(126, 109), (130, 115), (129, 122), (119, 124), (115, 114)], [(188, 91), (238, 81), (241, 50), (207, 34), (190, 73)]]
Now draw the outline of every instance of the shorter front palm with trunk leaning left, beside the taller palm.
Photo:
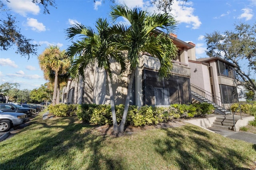
[(73, 40), (75, 36), (82, 36), (81, 40), (72, 42), (68, 48), (67, 54), (74, 57), (70, 75), (73, 78), (84, 78), (84, 69), (87, 65), (96, 63), (99, 68), (103, 68), (106, 72), (108, 80), (110, 106), (113, 120), (113, 134), (118, 132), (118, 124), (116, 121), (116, 112), (114, 106), (114, 96), (112, 90), (112, 75), (110, 60), (114, 60), (121, 66), (121, 73), (126, 70), (125, 59), (120, 49), (113, 46), (112, 42), (118, 38), (115, 34), (111, 34), (111, 28), (106, 19), (99, 18), (96, 21), (97, 30), (94, 31), (90, 27), (77, 24), (66, 30), (68, 38)]

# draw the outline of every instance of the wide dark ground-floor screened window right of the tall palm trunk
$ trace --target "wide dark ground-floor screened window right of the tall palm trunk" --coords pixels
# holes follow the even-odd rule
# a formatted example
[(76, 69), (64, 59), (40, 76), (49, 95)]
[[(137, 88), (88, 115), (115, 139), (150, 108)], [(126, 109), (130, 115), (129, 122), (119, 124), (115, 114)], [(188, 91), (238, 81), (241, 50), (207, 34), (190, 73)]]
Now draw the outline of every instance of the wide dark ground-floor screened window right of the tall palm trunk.
[(159, 79), (155, 71), (143, 71), (143, 105), (190, 103), (189, 78), (177, 75)]

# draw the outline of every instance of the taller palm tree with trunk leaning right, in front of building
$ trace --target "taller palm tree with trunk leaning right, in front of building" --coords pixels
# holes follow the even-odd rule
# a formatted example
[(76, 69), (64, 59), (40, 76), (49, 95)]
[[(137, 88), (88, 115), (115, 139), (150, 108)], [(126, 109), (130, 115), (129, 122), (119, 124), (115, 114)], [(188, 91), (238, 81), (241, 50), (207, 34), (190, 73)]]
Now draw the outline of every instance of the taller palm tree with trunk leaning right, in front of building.
[[(172, 59), (177, 55), (178, 49), (169, 38), (169, 34), (174, 31), (176, 21), (173, 16), (167, 14), (149, 14), (137, 8), (129, 9), (125, 5), (112, 6), (110, 12), (113, 21), (119, 17), (126, 18), (131, 26), (116, 26), (116, 33), (122, 35), (122, 39), (115, 43), (120, 49), (128, 51), (128, 61), (130, 62), (130, 82), (128, 84), (128, 94), (124, 107), (122, 121), (118, 127), (119, 132), (124, 132), (124, 125), (129, 108), (130, 94), (134, 73), (138, 66), (141, 52), (148, 52), (152, 57), (160, 61), (159, 77), (166, 77), (172, 69)], [(157, 33), (156, 28), (166, 30), (167, 34)]]

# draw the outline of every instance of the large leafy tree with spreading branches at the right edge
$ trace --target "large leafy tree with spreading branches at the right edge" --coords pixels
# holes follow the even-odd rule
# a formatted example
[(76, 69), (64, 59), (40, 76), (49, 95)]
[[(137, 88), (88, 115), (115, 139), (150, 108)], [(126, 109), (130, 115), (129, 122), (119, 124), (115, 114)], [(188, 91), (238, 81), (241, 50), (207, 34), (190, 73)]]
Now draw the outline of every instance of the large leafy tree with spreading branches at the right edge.
[(235, 25), (234, 31), (224, 33), (213, 32), (206, 34), (206, 54), (210, 57), (222, 57), (237, 65), (238, 80), (248, 90), (253, 91), (253, 100), (256, 100), (256, 24)]

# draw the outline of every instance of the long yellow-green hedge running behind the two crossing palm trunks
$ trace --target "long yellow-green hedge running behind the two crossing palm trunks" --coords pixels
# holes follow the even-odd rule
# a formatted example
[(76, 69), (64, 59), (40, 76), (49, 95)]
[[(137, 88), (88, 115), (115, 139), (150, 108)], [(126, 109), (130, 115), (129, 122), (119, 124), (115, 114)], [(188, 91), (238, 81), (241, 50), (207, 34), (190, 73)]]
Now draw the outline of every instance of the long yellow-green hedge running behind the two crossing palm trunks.
[[(208, 103), (196, 105), (173, 104), (170, 107), (129, 106), (126, 125), (144, 126), (157, 125), (173, 119), (205, 117), (212, 113), (214, 107)], [(124, 105), (116, 105), (116, 119), (118, 124), (122, 120)], [(77, 107), (77, 116), (80, 121), (86, 121), (96, 125), (112, 125), (112, 113), (110, 105), (83, 104)]]

